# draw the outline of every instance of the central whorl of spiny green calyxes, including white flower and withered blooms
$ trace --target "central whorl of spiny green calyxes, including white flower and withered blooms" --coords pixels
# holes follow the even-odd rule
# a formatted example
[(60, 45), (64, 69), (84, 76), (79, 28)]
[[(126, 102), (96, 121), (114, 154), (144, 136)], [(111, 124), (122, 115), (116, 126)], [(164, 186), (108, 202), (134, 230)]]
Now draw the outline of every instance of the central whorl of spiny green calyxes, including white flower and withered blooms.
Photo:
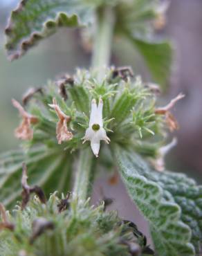
[[(144, 156), (151, 157), (151, 150), (145, 145), (151, 148), (155, 144), (158, 151), (165, 143), (165, 130), (178, 128), (170, 110), (183, 94), (167, 106), (157, 107), (158, 87), (133, 77), (130, 68), (108, 68), (101, 81), (97, 75), (95, 71), (78, 69), (71, 78), (66, 75), (62, 80), (49, 82), (43, 93), (32, 93), (26, 101), (28, 112), (15, 104), (28, 122), (23, 123), (30, 135), (27, 145), (45, 144), (62, 150), (62, 154), (66, 149), (66, 154), (70, 154), (86, 147), (82, 139), (83, 143), (89, 140), (98, 157), (100, 140), (107, 144), (111, 140), (138, 147)], [(58, 91), (59, 84), (62, 88)], [(37, 122), (33, 123), (33, 118)], [(152, 154), (152, 158), (156, 156)]]

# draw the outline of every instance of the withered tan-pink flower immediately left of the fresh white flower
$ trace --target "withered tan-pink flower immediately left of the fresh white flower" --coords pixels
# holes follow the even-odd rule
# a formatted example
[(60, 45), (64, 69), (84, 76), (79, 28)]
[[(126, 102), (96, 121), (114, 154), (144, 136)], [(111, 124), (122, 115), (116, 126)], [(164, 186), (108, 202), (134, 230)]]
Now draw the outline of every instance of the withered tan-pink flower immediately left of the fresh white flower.
[(71, 131), (68, 131), (67, 123), (70, 122), (71, 117), (66, 116), (64, 112), (59, 108), (55, 98), (53, 98), (53, 104), (48, 104), (49, 107), (52, 109), (55, 109), (55, 112), (57, 113), (57, 116), (59, 118), (59, 121), (57, 122), (56, 127), (56, 135), (57, 135), (57, 143), (61, 144), (63, 141), (68, 141), (73, 138), (73, 134)]

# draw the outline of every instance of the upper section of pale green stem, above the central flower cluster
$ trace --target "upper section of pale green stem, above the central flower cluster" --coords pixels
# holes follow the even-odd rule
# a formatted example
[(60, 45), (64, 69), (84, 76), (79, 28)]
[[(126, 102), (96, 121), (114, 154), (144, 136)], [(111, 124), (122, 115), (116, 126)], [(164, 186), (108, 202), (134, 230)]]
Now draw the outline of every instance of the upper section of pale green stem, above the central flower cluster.
[(100, 78), (104, 75), (104, 67), (109, 66), (110, 63), (113, 27), (113, 9), (110, 7), (100, 8), (97, 11), (92, 57), (92, 67), (99, 71)]

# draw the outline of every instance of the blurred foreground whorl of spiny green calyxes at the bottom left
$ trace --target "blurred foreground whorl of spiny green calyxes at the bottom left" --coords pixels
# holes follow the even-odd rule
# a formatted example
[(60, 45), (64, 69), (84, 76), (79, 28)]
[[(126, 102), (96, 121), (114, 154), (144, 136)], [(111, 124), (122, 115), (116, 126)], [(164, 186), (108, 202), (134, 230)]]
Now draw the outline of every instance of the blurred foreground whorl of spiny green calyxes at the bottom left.
[(78, 204), (77, 199), (71, 199), (66, 201), (66, 209), (59, 212), (60, 203), (54, 193), (46, 205), (36, 196), (25, 210), (17, 205), (8, 214), (15, 230), (1, 230), (0, 254), (129, 256), (127, 243), (138, 242), (127, 223), (122, 223), (116, 212), (104, 212), (103, 204), (95, 208), (89, 201)]

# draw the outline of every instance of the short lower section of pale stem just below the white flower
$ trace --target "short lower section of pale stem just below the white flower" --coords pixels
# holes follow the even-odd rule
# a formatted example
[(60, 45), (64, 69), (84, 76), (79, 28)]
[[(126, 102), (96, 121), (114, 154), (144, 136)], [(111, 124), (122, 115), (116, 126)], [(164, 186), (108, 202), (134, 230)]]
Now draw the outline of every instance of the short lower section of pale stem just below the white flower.
[(79, 201), (85, 201), (88, 196), (92, 159), (93, 154), (90, 147), (80, 151), (73, 188), (73, 196), (77, 197)]

